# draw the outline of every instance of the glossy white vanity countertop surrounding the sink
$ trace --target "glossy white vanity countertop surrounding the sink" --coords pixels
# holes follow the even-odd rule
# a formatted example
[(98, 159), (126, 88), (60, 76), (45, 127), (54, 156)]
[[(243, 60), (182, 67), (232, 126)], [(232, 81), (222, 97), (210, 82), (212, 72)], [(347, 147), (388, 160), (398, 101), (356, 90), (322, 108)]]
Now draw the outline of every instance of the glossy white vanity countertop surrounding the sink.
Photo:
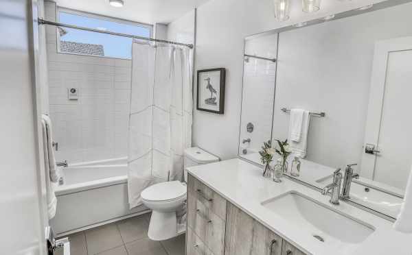
[[(187, 170), (229, 202), (308, 254), (412, 254), (412, 234), (393, 230), (391, 221), (367, 213), (365, 210), (345, 202), (341, 202), (339, 206), (332, 206), (328, 202), (329, 196), (321, 195), (319, 191), (287, 178), (283, 178), (283, 182), (280, 184), (275, 183), (262, 177), (260, 167), (244, 160), (236, 158), (189, 167)], [(261, 204), (267, 199), (290, 191), (305, 194), (328, 208), (333, 207), (345, 215), (364, 221), (373, 226), (375, 230), (362, 243), (347, 245), (336, 250), (336, 246), (317, 241), (310, 232), (306, 232), (296, 223), (276, 215)]]

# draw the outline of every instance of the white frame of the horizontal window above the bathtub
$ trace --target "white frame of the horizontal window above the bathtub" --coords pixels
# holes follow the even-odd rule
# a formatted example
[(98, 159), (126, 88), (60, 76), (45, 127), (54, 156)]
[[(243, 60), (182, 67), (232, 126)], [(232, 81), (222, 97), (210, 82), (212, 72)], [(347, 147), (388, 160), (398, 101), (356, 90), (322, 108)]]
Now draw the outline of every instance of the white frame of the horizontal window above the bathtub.
[[(104, 21), (111, 21), (115, 23), (123, 23), (127, 25), (135, 25), (139, 27), (145, 27), (149, 29), (149, 38), (152, 38), (153, 35), (153, 25), (146, 24), (146, 23), (139, 23), (136, 21), (128, 21), (126, 19), (119, 19), (119, 18), (113, 18), (111, 16), (104, 16), (100, 14), (93, 14), (90, 12), (82, 12), (79, 10), (73, 10), (69, 8), (62, 8), (62, 7), (57, 7), (56, 8), (56, 22), (60, 22), (60, 12), (66, 12), (69, 14), (76, 14), (79, 16), (86, 16), (88, 18), (92, 19), (101, 19)], [(111, 57), (111, 56), (96, 56), (96, 55), (91, 55), (91, 54), (82, 54), (82, 53), (73, 53), (73, 52), (67, 52), (67, 51), (60, 51), (60, 34), (58, 33), (58, 29), (56, 27), (56, 52), (60, 54), (69, 54), (69, 55), (78, 55), (78, 56), (88, 56), (88, 57), (95, 57), (95, 58), (114, 58), (114, 59), (119, 59), (119, 60), (130, 60), (129, 58), (119, 58), (119, 57)]]

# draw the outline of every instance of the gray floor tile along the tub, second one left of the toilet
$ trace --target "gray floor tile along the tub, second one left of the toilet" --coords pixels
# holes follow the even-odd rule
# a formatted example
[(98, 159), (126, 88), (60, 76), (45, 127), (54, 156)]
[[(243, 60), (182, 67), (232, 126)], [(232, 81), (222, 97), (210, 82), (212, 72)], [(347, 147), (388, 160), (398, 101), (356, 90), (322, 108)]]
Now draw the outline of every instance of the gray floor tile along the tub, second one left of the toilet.
[(87, 252), (98, 254), (123, 245), (122, 237), (115, 223), (86, 230)]

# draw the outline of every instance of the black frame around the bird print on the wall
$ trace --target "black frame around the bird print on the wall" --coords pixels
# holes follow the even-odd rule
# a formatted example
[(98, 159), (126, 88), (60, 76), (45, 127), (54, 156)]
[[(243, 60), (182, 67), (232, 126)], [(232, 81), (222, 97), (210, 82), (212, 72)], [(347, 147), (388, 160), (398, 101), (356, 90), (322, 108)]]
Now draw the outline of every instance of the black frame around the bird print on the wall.
[[(218, 98), (219, 98), (219, 100), (218, 100), (219, 101), (218, 109), (211, 110), (211, 109), (207, 109), (207, 108), (202, 108), (201, 104), (200, 104), (200, 100), (204, 100), (204, 99), (200, 98), (201, 97), (201, 95), (200, 95), (201, 90), (199, 89), (201, 84), (203, 84), (202, 81), (200, 80), (201, 75), (203, 73), (211, 73), (211, 72), (216, 72), (216, 71), (220, 72), (220, 80), (219, 80), (219, 84), (218, 84), (218, 88), (219, 88), (219, 91), (218, 91), (218, 93), (219, 93), (219, 95), (218, 95)], [(226, 69), (225, 68), (214, 68), (214, 69), (198, 70), (197, 71), (196, 110), (203, 110), (205, 112), (213, 112), (213, 113), (216, 113), (216, 114), (224, 114), (225, 113), (225, 86), (226, 86), (225, 83), (226, 83)], [(209, 84), (208, 84), (208, 86), (209, 86)], [(212, 90), (214, 90), (216, 92), (216, 90), (213, 87), (211, 87), (211, 90), (210, 90), (211, 91), (211, 97), (209, 98), (209, 100), (216, 99), (216, 98), (212, 98), (213, 97)], [(214, 102), (212, 102), (212, 104), (213, 103)], [(211, 107), (213, 107), (213, 106), (211, 106)]]

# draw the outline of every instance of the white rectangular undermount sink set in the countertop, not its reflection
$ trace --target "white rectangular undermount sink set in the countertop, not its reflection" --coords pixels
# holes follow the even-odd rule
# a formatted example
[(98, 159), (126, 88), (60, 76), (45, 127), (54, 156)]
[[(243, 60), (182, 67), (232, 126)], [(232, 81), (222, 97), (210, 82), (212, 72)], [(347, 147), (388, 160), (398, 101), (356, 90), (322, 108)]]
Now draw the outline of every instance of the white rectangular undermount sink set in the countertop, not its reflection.
[(306, 195), (290, 191), (261, 203), (280, 217), (295, 223), (299, 230), (308, 231), (315, 239), (344, 247), (361, 243), (374, 232), (367, 223), (340, 213)]

